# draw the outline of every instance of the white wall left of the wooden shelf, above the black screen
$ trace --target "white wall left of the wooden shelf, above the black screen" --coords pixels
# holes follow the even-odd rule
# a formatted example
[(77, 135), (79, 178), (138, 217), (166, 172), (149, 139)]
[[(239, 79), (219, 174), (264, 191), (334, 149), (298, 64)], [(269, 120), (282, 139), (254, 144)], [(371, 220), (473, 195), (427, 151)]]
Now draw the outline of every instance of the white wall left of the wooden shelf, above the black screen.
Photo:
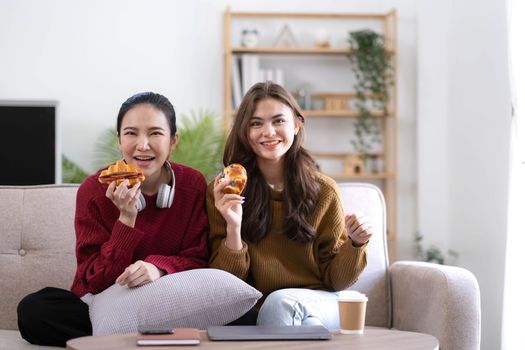
[(213, 1), (0, 4), (0, 98), (59, 101), (64, 153), (93, 170), (93, 144), (125, 98), (153, 90), (178, 112), (220, 110), (221, 11)]

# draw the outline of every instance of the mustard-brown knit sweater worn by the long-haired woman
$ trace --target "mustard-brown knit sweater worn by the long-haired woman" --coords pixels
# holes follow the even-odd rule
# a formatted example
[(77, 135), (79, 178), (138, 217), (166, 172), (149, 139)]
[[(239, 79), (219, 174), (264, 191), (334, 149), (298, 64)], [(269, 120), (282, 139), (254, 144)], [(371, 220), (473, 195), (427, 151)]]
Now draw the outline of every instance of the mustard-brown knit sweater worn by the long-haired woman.
[(213, 183), (208, 185), (206, 204), (210, 221), (210, 267), (222, 269), (247, 280), (264, 296), (282, 288), (343, 290), (357, 280), (366, 266), (366, 245), (352, 245), (344, 227), (344, 211), (337, 184), (320, 174), (317, 207), (310, 223), (317, 237), (310, 243), (298, 243), (279, 234), (283, 226), (281, 192), (272, 191), (273, 224), (259, 243), (243, 241), (239, 251), (229, 249), (226, 221), (215, 208)]

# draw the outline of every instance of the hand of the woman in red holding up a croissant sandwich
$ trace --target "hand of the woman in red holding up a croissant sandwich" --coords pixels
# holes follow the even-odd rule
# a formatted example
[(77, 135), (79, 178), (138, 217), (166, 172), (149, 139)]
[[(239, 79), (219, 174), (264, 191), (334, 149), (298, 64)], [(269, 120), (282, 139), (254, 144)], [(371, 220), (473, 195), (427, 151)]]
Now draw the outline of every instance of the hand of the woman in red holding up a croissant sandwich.
[(137, 203), (140, 197), (140, 182), (128, 188), (128, 180), (124, 180), (120, 185), (113, 181), (106, 190), (108, 197), (113, 204), (120, 210), (119, 220), (130, 227), (135, 227), (137, 218)]

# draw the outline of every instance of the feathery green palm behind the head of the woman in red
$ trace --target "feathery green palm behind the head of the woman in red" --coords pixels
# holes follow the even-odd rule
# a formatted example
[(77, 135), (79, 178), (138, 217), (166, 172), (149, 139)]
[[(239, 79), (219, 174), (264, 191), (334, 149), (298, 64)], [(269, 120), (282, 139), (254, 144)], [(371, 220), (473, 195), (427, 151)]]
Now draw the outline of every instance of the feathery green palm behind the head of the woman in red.
[[(177, 122), (180, 135), (171, 160), (191, 166), (211, 180), (222, 169), (225, 134), (219, 118), (209, 110), (191, 111)], [(106, 130), (95, 145), (95, 164), (102, 168), (122, 158), (113, 129)]]

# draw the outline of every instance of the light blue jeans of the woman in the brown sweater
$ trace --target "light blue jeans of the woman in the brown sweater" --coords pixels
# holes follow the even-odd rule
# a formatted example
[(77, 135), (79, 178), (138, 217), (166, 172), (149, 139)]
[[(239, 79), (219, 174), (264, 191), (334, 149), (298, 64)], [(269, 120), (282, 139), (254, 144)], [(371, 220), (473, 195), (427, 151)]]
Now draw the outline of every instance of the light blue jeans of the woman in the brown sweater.
[(339, 293), (303, 288), (279, 289), (268, 295), (259, 310), (258, 325), (339, 328)]

